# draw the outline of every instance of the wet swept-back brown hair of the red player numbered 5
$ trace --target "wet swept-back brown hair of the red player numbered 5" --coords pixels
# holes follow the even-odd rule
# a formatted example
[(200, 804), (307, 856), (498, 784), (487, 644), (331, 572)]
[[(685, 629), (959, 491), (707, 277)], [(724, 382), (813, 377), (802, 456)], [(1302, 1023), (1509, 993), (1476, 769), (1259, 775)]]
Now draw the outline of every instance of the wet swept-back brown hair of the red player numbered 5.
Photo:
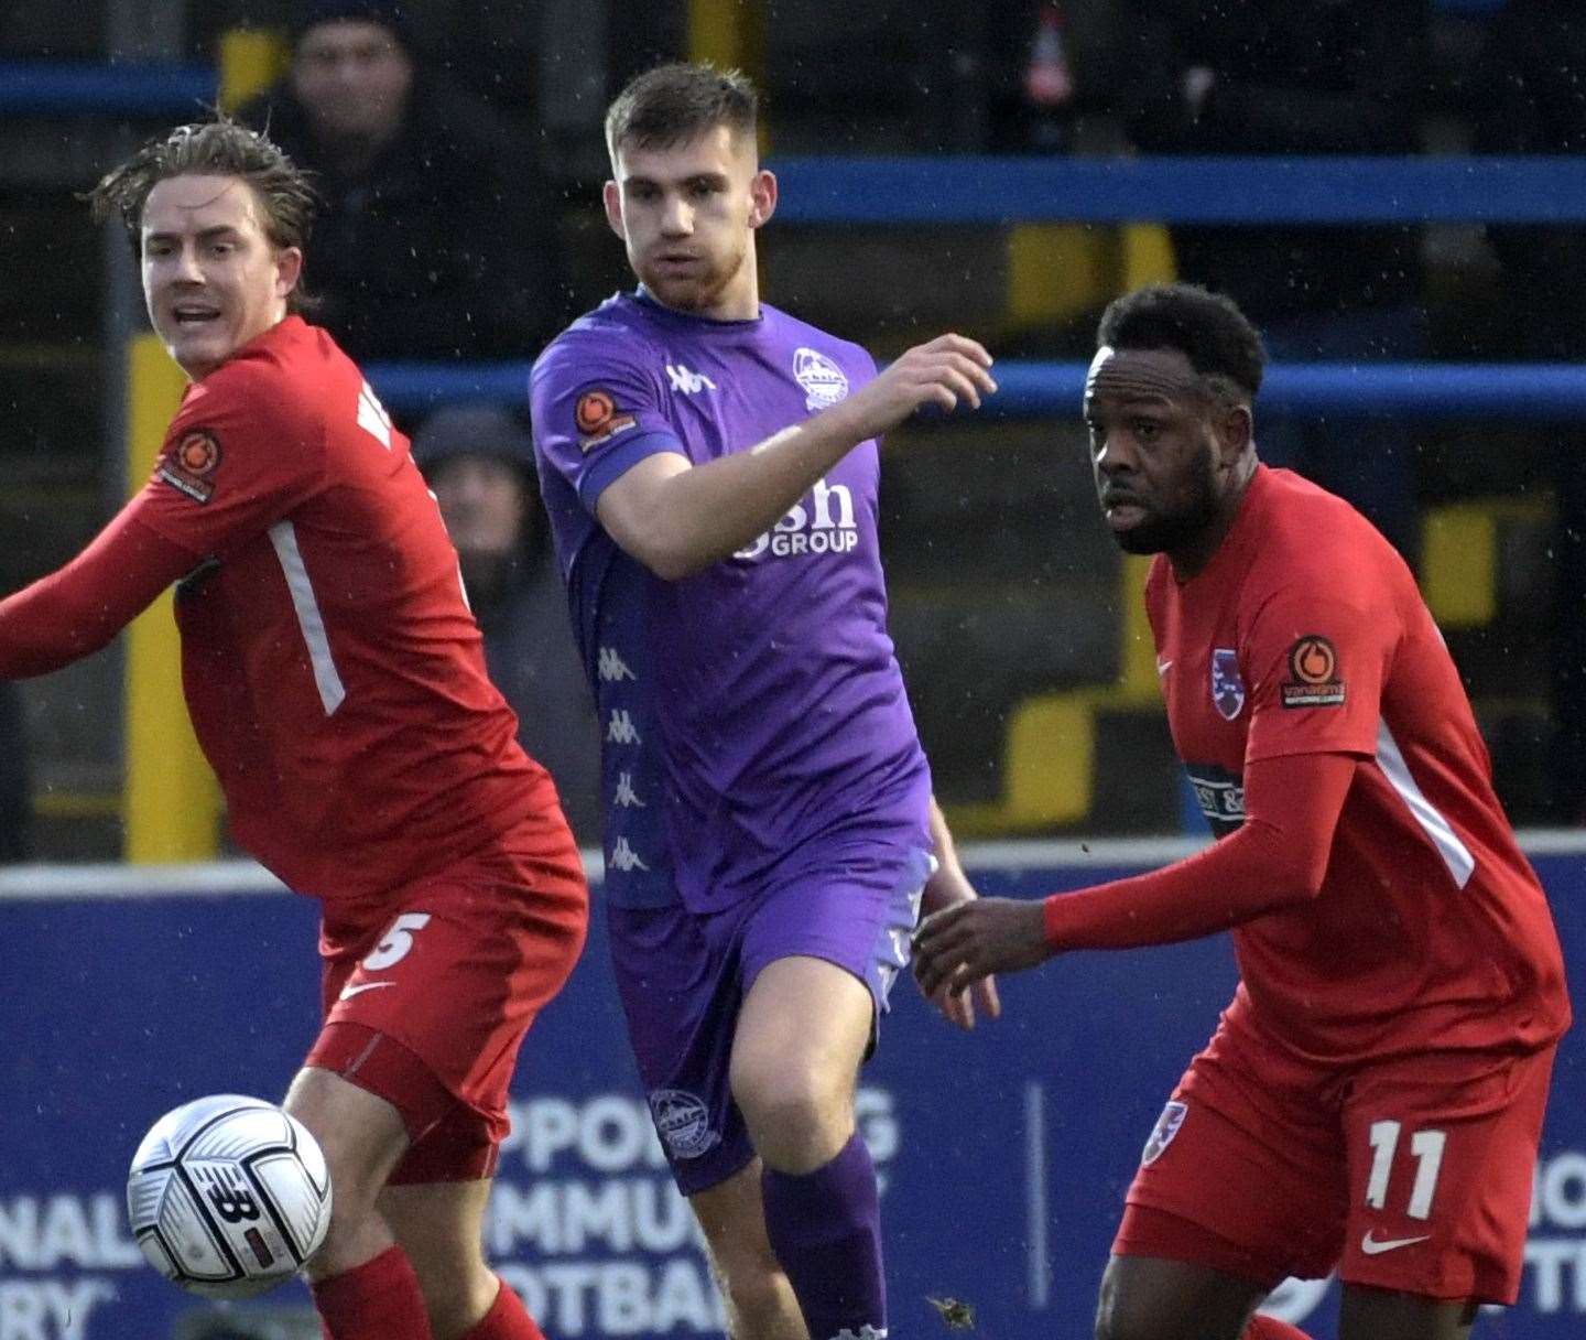
[[(178, 125), (168, 135), (149, 140), (127, 162), (111, 168), (86, 198), (94, 221), (105, 222), (119, 214), (132, 249), (140, 254), (143, 210), (149, 194), (173, 176), (235, 176), (244, 181), (259, 200), (265, 237), (271, 246), (308, 246), (314, 232), (319, 195), (309, 186), (308, 173), (257, 130), (217, 116), (192, 125)], [(295, 289), (287, 305), (292, 311), (308, 306), (309, 298)]]

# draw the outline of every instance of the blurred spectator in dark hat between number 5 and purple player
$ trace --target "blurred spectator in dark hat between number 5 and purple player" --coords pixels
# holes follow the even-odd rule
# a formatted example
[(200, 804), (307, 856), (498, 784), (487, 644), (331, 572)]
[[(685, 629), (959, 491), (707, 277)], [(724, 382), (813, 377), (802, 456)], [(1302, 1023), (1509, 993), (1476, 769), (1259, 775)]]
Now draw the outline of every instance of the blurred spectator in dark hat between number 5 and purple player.
[(534, 446), (496, 405), (447, 405), (420, 424), (412, 456), (457, 546), (492, 683), (517, 740), (555, 778), (573, 835), (598, 846), (600, 729), (550, 559)]

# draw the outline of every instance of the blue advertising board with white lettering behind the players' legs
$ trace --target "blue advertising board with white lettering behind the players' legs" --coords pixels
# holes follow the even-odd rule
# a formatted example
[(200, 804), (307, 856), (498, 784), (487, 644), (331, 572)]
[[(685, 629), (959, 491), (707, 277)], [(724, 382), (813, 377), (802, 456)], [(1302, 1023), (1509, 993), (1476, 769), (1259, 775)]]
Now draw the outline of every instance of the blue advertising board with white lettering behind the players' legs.
[[(964, 862), (982, 891), (1034, 897), (1186, 849), (1010, 843)], [(1586, 961), (1581, 837), (1527, 849), (1565, 957)], [(0, 875), (5, 1340), (157, 1340), (200, 1310), (127, 1235), (127, 1161), (178, 1102), (282, 1092), (319, 1002), (316, 907), (262, 878), (225, 886), (214, 867)], [(560, 1340), (711, 1340), (722, 1326), (709, 1275), (660, 1165), (604, 941), (596, 915), (523, 1051), (487, 1248)], [(974, 1305), (979, 1337), (1090, 1334), (1139, 1149), (1232, 983), (1221, 935), (1071, 954), (1006, 980), (1006, 1016), (971, 1037), (898, 983), (858, 1113), (885, 1184), (898, 1334), (945, 1337), (928, 1302), (944, 1296)], [(1575, 1005), (1586, 1008), (1578, 988)], [(1478, 1337), (1586, 1334), (1580, 1034), (1559, 1051), (1535, 1186), (1519, 1305), (1478, 1323)], [(300, 1286), (260, 1302), (305, 1305)], [(1335, 1284), (1285, 1286), (1280, 1310), (1316, 1340), (1337, 1335)], [(71, 1327), (46, 1329), (51, 1316)]]

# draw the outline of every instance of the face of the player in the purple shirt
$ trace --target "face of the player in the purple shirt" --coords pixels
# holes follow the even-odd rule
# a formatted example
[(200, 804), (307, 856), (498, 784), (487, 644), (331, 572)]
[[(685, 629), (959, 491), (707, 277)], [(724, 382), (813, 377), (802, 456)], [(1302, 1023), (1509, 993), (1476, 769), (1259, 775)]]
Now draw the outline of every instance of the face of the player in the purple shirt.
[(606, 183), (606, 218), (628, 264), (666, 306), (717, 319), (760, 314), (753, 235), (777, 183), (753, 140), (717, 125), (685, 144), (622, 149)]

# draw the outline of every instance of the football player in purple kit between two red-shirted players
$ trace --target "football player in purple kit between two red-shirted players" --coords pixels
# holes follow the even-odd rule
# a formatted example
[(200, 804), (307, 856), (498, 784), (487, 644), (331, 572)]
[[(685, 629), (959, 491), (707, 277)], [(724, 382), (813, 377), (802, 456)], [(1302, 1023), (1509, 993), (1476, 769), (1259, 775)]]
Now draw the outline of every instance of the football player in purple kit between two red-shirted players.
[[(960, 335), (877, 375), (760, 302), (755, 114), (695, 65), (612, 103), (606, 214), (641, 287), (541, 356), (534, 445), (600, 703), (617, 983), (731, 1332), (879, 1340), (856, 1075), (921, 900), (974, 891), (887, 637), (875, 440), (996, 383)], [(972, 1026), (971, 997), (939, 1005)]]

